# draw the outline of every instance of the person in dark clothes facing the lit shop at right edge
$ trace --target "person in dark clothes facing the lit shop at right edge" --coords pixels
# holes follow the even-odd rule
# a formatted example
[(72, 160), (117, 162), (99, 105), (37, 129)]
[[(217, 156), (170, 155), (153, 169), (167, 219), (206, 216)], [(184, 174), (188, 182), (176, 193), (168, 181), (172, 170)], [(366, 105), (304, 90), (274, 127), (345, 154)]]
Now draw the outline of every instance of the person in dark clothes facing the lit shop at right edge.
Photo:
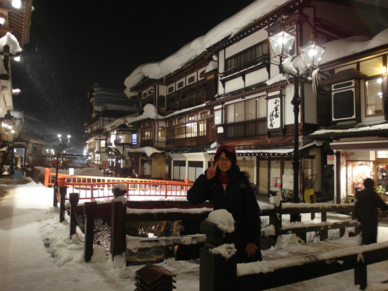
[(388, 205), (375, 192), (375, 182), (367, 178), (363, 181), (365, 189), (356, 191), (356, 207), (354, 213), (361, 223), (363, 245), (377, 243), (377, 209), (388, 211)]

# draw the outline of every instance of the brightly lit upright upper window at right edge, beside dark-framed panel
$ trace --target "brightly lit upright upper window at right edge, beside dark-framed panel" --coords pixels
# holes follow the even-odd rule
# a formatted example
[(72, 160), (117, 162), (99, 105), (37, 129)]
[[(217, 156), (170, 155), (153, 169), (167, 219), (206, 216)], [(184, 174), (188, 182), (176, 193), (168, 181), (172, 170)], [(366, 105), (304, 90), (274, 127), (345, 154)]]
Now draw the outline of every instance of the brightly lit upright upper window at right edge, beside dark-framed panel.
[(365, 81), (366, 116), (382, 115), (382, 78)]

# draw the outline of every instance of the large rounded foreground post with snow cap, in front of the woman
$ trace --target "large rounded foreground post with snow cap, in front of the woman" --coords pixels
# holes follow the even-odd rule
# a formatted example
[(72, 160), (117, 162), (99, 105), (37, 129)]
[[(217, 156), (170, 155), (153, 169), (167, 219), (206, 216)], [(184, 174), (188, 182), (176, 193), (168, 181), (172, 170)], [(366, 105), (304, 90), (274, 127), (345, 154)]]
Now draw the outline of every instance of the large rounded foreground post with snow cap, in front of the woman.
[(200, 249), (200, 291), (235, 291), (237, 255), (235, 245), (229, 244), (235, 230), (232, 215), (214, 210), (200, 224), (207, 242)]

